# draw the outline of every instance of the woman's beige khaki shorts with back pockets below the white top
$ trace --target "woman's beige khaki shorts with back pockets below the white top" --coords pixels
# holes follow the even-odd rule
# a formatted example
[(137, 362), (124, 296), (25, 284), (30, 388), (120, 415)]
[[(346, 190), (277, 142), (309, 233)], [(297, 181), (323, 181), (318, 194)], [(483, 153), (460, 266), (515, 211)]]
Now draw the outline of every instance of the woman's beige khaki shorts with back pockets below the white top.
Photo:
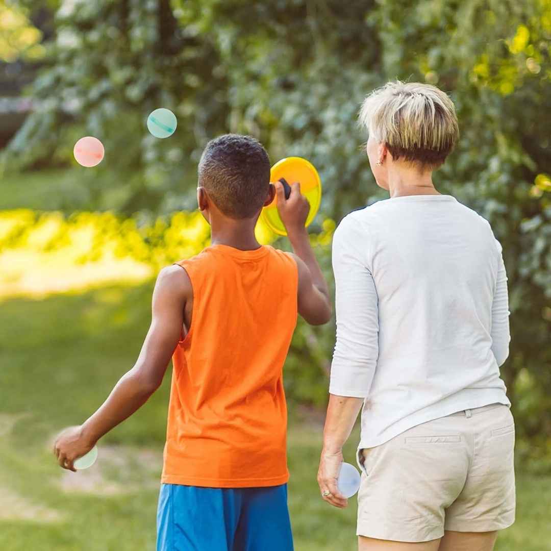
[(515, 521), (515, 425), (491, 404), (414, 426), (356, 456), (358, 536), (425, 542)]

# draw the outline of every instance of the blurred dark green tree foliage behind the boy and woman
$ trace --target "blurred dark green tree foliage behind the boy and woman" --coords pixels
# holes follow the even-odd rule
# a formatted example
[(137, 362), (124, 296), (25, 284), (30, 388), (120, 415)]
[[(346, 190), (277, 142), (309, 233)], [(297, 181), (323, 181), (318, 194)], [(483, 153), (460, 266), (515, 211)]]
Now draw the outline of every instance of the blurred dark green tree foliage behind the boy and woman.
[[(57, 10), (56, 28), (30, 91), (40, 108), (9, 153), (67, 163), (78, 137), (99, 137), (106, 159), (87, 171), (97, 208), (193, 208), (204, 143), (234, 131), (259, 137), (273, 160), (309, 158), (322, 212), (339, 220), (387, 196), (361, 152), (364, 96), (396, 78), (450, 93), (461, 141), (435, 183), (487, 218), (503, 244), (512, 342), (502, 373), (518, 451), (538, 465), (551, 457), (549, 0), (73, 1)], [(159, 106), (179, 120), (168, 140), (145, 131)], [(328, 272), (329, 254), (322, 245)], [(332, 324), (300, 324), (291, 397), (325, 401), (333, 343)]]

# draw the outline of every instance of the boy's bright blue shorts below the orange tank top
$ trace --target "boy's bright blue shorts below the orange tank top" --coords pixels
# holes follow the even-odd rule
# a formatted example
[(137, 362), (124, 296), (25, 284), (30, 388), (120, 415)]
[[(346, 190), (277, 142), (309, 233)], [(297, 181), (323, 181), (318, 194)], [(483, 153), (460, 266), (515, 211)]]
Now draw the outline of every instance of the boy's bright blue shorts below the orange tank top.
[(293, 551), (287, 484), (161, 484), (156, 551)]

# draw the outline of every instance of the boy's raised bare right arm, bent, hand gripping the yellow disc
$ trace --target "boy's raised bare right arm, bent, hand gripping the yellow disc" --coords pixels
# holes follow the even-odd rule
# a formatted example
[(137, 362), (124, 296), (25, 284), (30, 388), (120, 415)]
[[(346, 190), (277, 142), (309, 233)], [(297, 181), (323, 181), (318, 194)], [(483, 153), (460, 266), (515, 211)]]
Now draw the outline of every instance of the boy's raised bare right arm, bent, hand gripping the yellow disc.
[(282, 183), (276, 182), (275, 186), (279, 217), (287, 229), (294, 251), (290, 254), (295, 258), (299, 271), (299, 314), (311, 325), (322, 325), (331, 319), (331, 298), (304, 227), (310, 205), (306, 197), (300, 194), (300, 183), (291, 185), (288, 199), (285, 199)]

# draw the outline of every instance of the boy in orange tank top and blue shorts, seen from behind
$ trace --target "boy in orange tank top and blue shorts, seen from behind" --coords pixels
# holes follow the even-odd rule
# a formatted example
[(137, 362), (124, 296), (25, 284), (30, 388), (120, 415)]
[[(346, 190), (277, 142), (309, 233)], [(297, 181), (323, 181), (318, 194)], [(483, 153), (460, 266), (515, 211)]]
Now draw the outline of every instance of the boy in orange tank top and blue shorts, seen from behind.
[[(285, 199), (269, 182), (266, 150), (249, 136), (209, 142), (199, 161), (197, 202), (211, 245), (161, 269), (153, 316), (136, 365), (54, 452), (75, 458), (141, 407), (172, 356), (158, 551), (289, 551), (287, 408), (282, 370), (297, 313), (331, 317), (327, 284), (304, 227), (300, 183)], [(255, 225), (277, 193), (295, 253), (261, 246)]]

